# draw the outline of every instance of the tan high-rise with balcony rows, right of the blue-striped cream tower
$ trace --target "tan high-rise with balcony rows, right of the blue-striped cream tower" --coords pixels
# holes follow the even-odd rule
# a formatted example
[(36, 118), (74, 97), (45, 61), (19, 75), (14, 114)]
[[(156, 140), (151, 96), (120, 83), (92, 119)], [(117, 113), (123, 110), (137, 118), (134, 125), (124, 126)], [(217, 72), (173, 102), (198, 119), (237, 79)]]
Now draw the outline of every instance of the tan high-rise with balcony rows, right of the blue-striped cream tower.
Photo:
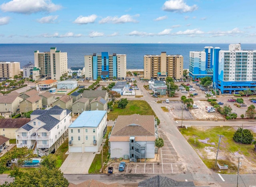
[(144, 79), (165, 80), (166, 77), (181, 79), (183, 76), (182, 55), (145, 55)]

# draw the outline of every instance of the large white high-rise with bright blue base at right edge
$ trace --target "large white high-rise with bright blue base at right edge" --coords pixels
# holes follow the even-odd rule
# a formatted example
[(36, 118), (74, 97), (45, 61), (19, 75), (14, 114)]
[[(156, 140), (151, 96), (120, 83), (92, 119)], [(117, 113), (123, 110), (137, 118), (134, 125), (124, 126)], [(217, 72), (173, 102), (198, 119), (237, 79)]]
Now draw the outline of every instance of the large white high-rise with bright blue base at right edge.
[(230, 44), (229, 50), (214, 48), (213, 85), (221, 93), (233, 94), (256, 87), (256, 50), (241, 50)]

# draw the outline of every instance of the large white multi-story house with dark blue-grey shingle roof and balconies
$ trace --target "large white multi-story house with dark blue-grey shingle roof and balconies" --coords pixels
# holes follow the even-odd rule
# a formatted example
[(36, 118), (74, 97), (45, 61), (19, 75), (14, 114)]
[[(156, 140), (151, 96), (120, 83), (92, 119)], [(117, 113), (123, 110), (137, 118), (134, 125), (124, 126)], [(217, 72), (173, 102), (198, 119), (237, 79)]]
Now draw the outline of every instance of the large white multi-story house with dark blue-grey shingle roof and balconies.
[(34, 110), (30, 121), (16, 130), (17, 147), (44, 149), (52, 153), (68, 136), (71, 111), (54, 106), (48, 110)]

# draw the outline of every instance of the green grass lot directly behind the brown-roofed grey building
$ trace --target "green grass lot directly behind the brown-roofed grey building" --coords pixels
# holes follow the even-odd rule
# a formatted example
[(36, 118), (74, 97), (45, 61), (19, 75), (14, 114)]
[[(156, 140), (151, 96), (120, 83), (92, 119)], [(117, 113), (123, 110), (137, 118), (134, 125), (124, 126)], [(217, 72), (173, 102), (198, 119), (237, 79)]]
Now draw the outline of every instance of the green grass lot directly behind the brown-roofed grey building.
[(154, 111), (146, 101), (128, 101), (126, 108), (121, 109), (114, 104), (114, 111), (108, 113), (108, 120), (115, 120), (118, 115), (155, 115)]

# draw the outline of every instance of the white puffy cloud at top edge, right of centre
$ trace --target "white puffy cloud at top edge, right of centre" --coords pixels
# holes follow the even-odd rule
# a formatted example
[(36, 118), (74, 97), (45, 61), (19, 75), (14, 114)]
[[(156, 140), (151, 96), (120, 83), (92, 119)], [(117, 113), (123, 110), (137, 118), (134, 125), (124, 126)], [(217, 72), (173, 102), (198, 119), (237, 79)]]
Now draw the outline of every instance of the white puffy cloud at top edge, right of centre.
[(168, 0), (164, 3), (163, 10), (169, 12), (193, 12), (197, 6), (188, 6), (183, 0)]

